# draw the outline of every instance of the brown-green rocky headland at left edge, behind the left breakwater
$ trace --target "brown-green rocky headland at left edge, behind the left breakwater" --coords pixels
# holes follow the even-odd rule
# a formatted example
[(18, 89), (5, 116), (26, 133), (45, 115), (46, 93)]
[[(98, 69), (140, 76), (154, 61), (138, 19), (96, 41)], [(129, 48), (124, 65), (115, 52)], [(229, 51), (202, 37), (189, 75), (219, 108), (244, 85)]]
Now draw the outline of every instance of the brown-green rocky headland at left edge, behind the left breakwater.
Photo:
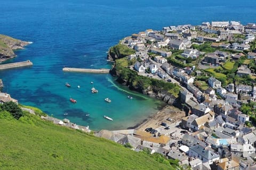
[(0, 62), (15, 57), (13, 50), (23, 49), (29, 43), (14, 39), (9, 36), (0, 35)]

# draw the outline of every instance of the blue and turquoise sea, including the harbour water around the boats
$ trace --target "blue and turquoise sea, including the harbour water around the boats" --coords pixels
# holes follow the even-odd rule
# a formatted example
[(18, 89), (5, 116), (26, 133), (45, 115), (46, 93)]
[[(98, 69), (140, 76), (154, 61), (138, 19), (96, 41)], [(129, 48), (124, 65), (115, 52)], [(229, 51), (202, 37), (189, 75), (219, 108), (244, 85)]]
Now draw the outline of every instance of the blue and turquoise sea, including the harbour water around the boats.
[[(255, 23), (255, 6), (252, 0), (0, 0), (0, 33), (33, 42), (5, 63), (30, 60), (34, 64), (0, 71), (2, 91), (20, 104), (95, 131), (127, 129), (158, 112), (163, 101), (130, 91), (109, 74), (63, 72), (62, 68), (110, 68), (109, 47), (146, 29), (207, 21)], [(91, 93), (92, 87), (98, 94)], [(107, 97), (111, 103), (104, 101)]]

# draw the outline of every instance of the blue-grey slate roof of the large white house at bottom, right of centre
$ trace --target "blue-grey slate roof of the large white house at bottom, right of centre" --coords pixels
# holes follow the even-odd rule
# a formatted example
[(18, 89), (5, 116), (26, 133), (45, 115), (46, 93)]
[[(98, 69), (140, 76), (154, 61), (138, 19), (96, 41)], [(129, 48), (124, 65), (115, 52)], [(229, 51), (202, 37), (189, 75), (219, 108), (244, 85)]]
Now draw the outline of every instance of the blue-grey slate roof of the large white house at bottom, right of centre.
[(191, 147), (189, 147), (189, 150), (190, 149), (194, 150), (197, 154), (201, 155), (202, 157), (204, 157), (207, 160), (211, 160), (211, 159), (220, 157), (219, 154), (215, 154), (214, 152), (205, 149), (201, 145), (191, 146)]

